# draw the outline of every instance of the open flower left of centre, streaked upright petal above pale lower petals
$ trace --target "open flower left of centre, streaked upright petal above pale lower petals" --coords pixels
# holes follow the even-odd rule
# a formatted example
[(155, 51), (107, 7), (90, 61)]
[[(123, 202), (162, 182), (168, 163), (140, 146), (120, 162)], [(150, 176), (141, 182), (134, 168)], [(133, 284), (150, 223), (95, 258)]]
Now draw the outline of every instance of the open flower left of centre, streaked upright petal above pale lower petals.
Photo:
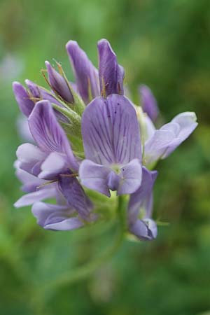
[(78, 171), (78, 162), (49, 102), (36, 103), (29, 116), (29, 128), (37, 146), (22, 144), (18, 147), (21, 169), (50, 180), (68, 169)]

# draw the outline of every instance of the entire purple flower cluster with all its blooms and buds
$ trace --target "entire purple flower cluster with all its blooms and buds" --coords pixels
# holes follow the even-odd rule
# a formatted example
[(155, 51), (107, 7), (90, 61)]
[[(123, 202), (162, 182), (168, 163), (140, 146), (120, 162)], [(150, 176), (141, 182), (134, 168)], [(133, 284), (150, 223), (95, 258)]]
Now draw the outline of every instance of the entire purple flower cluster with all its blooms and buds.
[[(76, 41), (69, 41), (66, 50), (76, 83), (69, 82), (57, 62), (57, 70), (45, 62), (50, 90), (30, 80), (26, 88), (13, 83), (34, 139), (17, 150), (16, 174), (27, 194), (15, 207), (32, 205), (45, 229), (72, 230), (101, 220), (94, 195), (126, 195), (127, 231), (154, 239), (158, 173), (153, 168), (195, 130), (195, 113), (181, 113), (156, 129), (158, 105), (151, 90), (139, 88), (141, 106), (125, 96), (125, 71), (108, 41), (98, 43), (98, 70)], [(54, 201), (43, 202), (49, 199)]]

